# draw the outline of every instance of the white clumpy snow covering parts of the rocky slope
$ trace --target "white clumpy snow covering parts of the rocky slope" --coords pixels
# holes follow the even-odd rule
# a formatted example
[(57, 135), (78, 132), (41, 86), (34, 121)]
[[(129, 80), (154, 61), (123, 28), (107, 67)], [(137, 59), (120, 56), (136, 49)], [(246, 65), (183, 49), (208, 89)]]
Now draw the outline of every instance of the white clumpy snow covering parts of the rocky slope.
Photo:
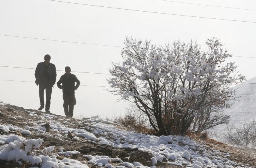
[[(26, 111), (28, 112), (28, 111)], [(144, 150), (152, 154), (151, 162), (152, 167), (155, 167), (158, 162), (167, 162), (169, 165), (186, 166), (192, 168), (233, 168), (240, 167), (236, 162), (229, 160), (229, 154), (225, 154), (225, 158), (219, 156), (218, 150), (206, 150), (204, 146), (200, 146), (189, 137), (183, 136), (152, 136), (146, 134), (135, 133), (132, 130), (126, 131), (110, 124), (109, 121), (102, 120), (101, 118), (89, 118), (79, 121), (80, 128), (69, 128), (63, 125), (67, 123), (57, 122), (53, 114), (41, 115), (35, 114), (35, 112), (29, 112), (30, 116), (34, 117), (34, 126), (25, 126), (24, 128), (18, 128), (12, 124), (1, 125), (0, 130), (8, 133), (11, 130), (26, 134), (26, 138), (8, 134), (0, 135), (0, 160), (14, 161), (18, 164), (22, 164), (22, 161), (31, 162), (36, 168), (38, 165), (41, 168), (86, 168), (88, 164), (94, 164), (96, 166), (105, 166), (108, 168), (114, 167), (111, 162), (119, 162), (119, 168), (144, 168), (139, 162), (123, 162), (120, 158), (110, 158), (108, 156), (91, 156), (84, 155), (84, 158), (88, 159), (88, 163), (81, 163), (77, 160), (70, 158), (64, 158), (58, 160), (59, 155), (68, 156), (70, 154), (79, 154), (78, 151), (66, 151), (64, 148), (60, 148), (58, 153), (53, 153), (54, 146), (41, 149), (43, 140), (29, 139), (29, 135), (32, 134), (30, 130), (36, 130), (40, 134), (48, 134), (48, 136), (58, 136), (60, 140), (67, 136), (68, 132), (72, 132), (76, 137), (74, 140), (84, 138), (92, 142), (100, 144), (106, 144), (117, 148), (138, 148), (138, 150)], [(13, 118), (20, 118), (21, 116), (13, 116)], [(15, 120), (15, 119), (14, 119)], [(50, 124), (50, 130), (56, 134), (52, 135), (49, 132), (45, 132), (45, 128), (39, 125)], [(88, 123), (90, 123), (88, 125)], [(115, 122), (116, 123), (116, 122)], [(88, 132), (89, 130), (90, 132)], [(91, 133), (92, 132), (92, 133)], [(63, 136), (62, 134), (65, 133)], [(96, 136), (98, 138), (96, 138)], [(79, 138), (78, 138), (79, 137)], [(4, 144), (4, 145), (3, 145)]]

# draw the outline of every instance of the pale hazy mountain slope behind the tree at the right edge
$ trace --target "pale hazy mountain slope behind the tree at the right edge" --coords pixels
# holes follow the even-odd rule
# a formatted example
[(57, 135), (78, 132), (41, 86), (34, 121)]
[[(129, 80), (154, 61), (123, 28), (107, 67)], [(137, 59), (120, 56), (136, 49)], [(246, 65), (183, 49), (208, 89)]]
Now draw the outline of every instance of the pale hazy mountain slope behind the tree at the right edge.
[[(230, 114), (230, 126), (235, 126), (244, 120), (256, 119), (256, 77), (242, 82), (234, 86), (235, 100), (233, 100), (232, 108), (224, 109), (226, 114)], [(212, 137), (218, 141), (225, 142), (224, 131), (227, 125), (221, 125), (214, 128)]]

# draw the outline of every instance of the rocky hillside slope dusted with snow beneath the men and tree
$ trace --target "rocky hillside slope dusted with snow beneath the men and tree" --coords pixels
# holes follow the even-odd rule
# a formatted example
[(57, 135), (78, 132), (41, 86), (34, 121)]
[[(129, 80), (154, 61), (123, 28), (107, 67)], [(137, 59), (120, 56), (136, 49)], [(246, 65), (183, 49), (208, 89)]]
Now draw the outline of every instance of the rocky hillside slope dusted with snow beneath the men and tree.
[(0, 167), (256, 167), (252, 149), (190, 136), (154, 136), (118, 121), (78, 120), (0, 103)]

